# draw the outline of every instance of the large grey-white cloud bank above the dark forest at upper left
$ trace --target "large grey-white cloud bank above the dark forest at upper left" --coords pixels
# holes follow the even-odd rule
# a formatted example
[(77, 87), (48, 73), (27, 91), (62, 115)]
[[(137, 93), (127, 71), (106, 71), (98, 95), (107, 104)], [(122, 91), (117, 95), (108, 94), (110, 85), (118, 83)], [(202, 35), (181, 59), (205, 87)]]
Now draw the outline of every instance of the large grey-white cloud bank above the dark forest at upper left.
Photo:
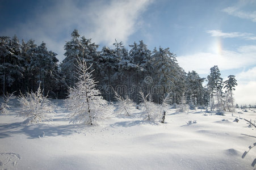
[(1, 35), (16, 34), (21, 39), (34, 39), (37, 44), (44, 41), (62, 61), (65, 41), (71, 39), (74, 28), (97, 44), (111, 45), (115, 39), (125, 43), (139, 29), (140, 14), (152, 1), (54, 1), (43, 11), (36, 9), (31, 20), (17, 23)]

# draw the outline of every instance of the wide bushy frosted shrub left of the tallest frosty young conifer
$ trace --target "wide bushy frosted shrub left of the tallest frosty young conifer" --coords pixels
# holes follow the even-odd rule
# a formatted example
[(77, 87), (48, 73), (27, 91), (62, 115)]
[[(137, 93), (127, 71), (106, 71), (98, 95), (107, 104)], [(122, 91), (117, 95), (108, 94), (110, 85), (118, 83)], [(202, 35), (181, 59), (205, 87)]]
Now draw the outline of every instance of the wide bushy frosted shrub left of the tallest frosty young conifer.
[(37, 124), (43, 121), (51, 121), (54, 112), (54, 105), (47, 96), (43, 95), (43, 91), (39, 87), (36, 92), (19, 95), (19, 103), (21, 111), (18, 116), (27, 118), (24, 123), (27, 125)]

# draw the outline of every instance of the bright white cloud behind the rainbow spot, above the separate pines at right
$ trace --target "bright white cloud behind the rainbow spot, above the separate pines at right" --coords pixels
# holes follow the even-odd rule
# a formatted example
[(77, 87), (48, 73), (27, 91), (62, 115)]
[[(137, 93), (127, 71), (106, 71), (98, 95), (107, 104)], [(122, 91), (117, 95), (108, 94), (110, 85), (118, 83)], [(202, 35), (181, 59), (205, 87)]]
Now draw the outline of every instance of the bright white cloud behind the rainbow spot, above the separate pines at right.
[(178, 56), (177, 60), (185, 71), (195, 70), (199, 74), (207, 74), (214, 65), (220, 70), (256, 65), (255, 49), (256, 46), (241, 46), (237, 52), (222, 50), (220, 53), (196, 53)]

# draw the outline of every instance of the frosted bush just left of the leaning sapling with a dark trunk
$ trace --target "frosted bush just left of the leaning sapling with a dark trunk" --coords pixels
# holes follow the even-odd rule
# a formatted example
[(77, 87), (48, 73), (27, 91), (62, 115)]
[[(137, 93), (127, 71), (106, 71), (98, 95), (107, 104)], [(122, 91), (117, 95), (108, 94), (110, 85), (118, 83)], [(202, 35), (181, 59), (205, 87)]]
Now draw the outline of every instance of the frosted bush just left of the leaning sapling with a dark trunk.
[(150, 94), (144, 96), (143, 92), (139, 92), (141, 107), (143, 109), (142, 115), (145, 120), (148, 121), (158, 121), (161, 117), (161, 113), (159, 112), (160, 108), (156, 103), (153, 103), (152, 96)]

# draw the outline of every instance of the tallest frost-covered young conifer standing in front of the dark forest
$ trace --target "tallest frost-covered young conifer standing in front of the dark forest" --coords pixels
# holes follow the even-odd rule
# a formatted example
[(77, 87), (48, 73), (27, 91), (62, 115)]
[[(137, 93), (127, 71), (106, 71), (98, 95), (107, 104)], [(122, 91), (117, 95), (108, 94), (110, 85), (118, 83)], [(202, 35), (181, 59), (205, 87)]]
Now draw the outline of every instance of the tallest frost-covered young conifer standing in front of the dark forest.
[(106, 118), (108, 113), (113, 112), (114, 107), (108, 105), (107, 101), (100, 96), (96, 82), (91, 78), (90, 67), (86, 66), (84, 60), (77, 60), (77, 79), (75, 87), (69, 88), (66, 106), (71, 111), (68, 114), (70, 122), (82, 123), (86, 125), (96, 124), (97, 121)]

